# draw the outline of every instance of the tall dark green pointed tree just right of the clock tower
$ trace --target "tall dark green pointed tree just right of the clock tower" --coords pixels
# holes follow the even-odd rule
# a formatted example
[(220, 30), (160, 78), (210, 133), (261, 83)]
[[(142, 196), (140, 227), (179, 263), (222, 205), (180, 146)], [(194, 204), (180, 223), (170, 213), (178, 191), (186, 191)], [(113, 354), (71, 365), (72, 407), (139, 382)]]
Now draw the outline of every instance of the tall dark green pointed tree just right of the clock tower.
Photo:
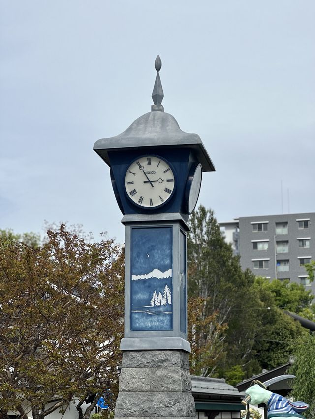
[(188, 292), (203, 301), (200, 322), (204, 322), (204, 329), (200, 325), (199, 340), (211, 338), (214, 323), (208, 323), (208, 319), (215, 319), (215, 329), (221, 327), (225, 331), (220, 335), (221, 352), (228, 350), (229, 354), (225, 359), (217, 358), (211, 368), (204, 367), (202, 374), (217, 370), (224, 375), (231, 366), (246, 367), (252, 360), (253, 338), (259, 327), (255, 309), (261, 302), (252, 288), (254, 275), (249, 270), (242, 271), (239, 257), (233, 255), (231, 246), (224, 241), (213, 211), (200, 205), (190, 217), (189, 228)]

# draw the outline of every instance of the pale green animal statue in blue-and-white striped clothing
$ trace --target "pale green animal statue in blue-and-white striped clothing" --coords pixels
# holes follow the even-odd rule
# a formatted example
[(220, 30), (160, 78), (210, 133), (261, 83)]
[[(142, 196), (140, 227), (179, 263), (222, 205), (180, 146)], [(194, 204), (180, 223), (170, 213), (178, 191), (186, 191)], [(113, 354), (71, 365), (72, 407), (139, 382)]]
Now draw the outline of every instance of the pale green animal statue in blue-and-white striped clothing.
[(246, 406), (249, 403), (265, 403), (267, 405), (267, 419), (304, 418), (301, 412), (309, 408), (309, 405), (304, 402), (291, 402), (285, 397), (267, 390), (266, 386), (258, 380), (252, 382), (245, 394), (243, 405)]

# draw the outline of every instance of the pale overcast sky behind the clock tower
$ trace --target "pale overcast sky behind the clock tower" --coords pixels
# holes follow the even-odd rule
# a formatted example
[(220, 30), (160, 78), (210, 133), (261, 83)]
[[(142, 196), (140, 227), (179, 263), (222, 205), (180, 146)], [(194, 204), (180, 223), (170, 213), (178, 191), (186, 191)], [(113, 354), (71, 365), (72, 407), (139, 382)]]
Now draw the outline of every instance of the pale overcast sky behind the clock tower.
[(0, 228), (124, 241), (93, 145), (151, 110), (157, 54), (165, 112), (216, 166), (199, 203), (315, 211), (314, 22), (314, 0), (0, 0)]

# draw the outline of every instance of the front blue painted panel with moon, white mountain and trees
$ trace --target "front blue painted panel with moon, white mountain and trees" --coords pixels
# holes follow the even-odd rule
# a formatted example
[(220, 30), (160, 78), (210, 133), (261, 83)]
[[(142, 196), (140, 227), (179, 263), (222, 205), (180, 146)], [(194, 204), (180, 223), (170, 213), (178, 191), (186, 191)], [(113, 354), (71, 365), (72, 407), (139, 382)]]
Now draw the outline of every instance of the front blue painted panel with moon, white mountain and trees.
[(172, 227), (131, 230), (130, 330), (173, 330)]

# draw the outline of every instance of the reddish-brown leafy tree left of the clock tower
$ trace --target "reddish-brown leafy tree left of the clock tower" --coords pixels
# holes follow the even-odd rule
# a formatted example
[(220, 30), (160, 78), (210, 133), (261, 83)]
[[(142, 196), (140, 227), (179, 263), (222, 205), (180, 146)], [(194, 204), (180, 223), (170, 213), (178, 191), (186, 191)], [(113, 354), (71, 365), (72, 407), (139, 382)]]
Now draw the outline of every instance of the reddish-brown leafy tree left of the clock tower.
[[(28, 419), (31, 409), (43, 419), (74, 398), (88, 418), (104, 389), (118, 392), (123, 254), (112, 240), (87, 243), (64, 225), (47, 235), (37, 248), (0, 237), (3, 418), (10, 409)], [(83, 414), (89, 394), (96, 396)]]

